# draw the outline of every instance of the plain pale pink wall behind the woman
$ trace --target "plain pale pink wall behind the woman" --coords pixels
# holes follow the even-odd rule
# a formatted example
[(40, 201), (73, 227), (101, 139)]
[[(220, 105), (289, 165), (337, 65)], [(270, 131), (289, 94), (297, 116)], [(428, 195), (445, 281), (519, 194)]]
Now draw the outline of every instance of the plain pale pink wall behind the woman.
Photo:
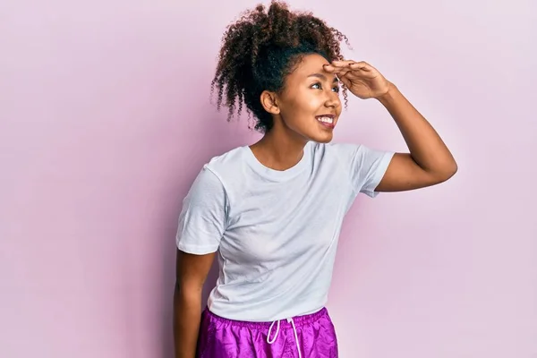
[[(291, 3), (345, 32), (459, 164), (355, 203), (328, 304), (342, 357), (537, 357), (537, 4), (496, 3)], [(183, 196), (259, 138), (209, 104), (222, 32), (253, 4), (2, 4), (2, 357), (172, 356)], [(405, 149), (358, 98), (336, 141)]]

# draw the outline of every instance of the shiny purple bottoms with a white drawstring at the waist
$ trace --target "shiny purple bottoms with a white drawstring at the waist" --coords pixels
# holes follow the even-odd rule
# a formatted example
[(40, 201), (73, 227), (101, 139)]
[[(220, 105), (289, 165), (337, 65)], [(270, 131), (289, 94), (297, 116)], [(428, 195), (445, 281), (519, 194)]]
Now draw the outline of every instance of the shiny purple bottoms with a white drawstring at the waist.
[(205, 310), (198, 357), (337, 358), (337, 337), (326, 308), (275, 322), (226, 320)]

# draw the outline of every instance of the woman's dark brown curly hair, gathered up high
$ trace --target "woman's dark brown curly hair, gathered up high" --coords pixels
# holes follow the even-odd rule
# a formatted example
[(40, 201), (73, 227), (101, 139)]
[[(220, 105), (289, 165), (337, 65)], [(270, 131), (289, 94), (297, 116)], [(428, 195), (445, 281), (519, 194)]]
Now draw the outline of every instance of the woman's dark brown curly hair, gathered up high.
[(286, 3), (276, 0), (268, 11), (258, 4), (227, 26), (211, 82), (211, 97), (216, 88), (217, 109), (223, 103), (228, 107), (228, 121), (235, 110), (241, 115), (244, 104), (249, 118), (251, 114), (256, 117), (254, 128), (268, 132), (273, 119), (261, 106), (263, 90), (281, 93), (286, 76), (294, 71), (303, 55), (319, 54), (328, 61), (343, 60), (339, 47), (342, 40), (350, 46), (344, 34), (311, 13), (291, 12)]

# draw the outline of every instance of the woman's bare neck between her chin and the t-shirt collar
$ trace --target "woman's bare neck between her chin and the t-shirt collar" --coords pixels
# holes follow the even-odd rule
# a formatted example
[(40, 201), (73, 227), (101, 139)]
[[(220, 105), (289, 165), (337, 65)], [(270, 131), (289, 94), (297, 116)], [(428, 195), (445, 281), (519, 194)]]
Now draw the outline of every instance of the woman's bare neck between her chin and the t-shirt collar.
[(307, 139), (296, 132), (275, 125), (250, 148), (263, 166), (274, 170), (286, 170), (303, 158), (303, 149), (307, 142)]

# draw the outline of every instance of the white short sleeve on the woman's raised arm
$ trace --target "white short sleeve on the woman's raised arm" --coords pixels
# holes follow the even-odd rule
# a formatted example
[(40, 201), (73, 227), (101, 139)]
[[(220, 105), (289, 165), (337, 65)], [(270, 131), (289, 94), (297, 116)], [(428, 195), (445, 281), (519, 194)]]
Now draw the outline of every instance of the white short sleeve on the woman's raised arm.
[(388, 169), (394, 152), (371, 149), (356, 144), (336, 144), (338, 158), (348, 168), (354, 192), (362, 192), (371, 198), (379, 192), (375, 189)]

